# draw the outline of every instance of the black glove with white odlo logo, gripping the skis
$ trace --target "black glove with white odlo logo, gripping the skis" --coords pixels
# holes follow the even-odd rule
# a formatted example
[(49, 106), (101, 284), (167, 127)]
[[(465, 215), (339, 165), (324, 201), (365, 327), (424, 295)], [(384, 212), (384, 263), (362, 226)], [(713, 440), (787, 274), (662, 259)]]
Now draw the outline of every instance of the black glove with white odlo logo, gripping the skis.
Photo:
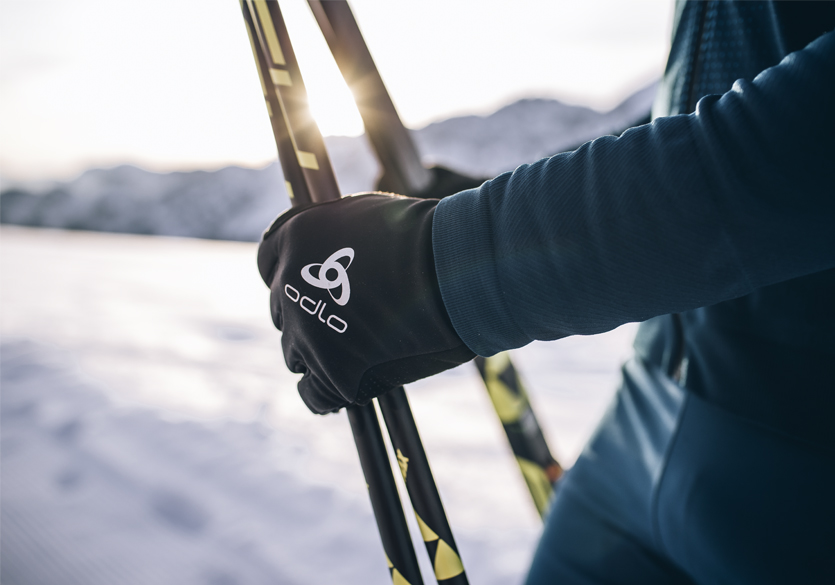
[(280, 215), (258, 248), (270, 310), (313, 412), (375, 396), (475, 354), (444, 308), (432, 253), (437, 200), (379, 193)]

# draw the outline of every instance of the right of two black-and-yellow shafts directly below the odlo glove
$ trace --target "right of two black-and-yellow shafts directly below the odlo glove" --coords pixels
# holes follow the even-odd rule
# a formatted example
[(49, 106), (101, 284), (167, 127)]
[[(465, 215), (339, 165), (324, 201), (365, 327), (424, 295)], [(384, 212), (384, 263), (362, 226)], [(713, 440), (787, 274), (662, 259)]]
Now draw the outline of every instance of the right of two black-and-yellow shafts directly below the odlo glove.
[(441, 585), (467, 585), (467, 575), (409, 408), (406, 391), (401, 386), (381, 396), (379, 403), (435, 578)]

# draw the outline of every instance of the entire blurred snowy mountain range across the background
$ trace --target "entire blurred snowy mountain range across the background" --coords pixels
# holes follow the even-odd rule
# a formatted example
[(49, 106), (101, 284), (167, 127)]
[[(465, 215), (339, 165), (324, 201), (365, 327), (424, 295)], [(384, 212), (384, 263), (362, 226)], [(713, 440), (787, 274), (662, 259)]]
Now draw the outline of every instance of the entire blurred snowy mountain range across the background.
[[(655, 88), (644, 88), (605, 113), (524, 99), (489, 116), (430, 124), (414, 136), (427, 163), (488, 178), (635, 124), (649, 112)], [(344, 193), (374, 187), (378, 165), (365, 137), (335, 136), (326, 142)], [(89, 170), (69, 182), (7, 189), (0, 194), (0, 222), (255, 241), (288, 206), (277, 163), (166, 174), (124, 165)]]

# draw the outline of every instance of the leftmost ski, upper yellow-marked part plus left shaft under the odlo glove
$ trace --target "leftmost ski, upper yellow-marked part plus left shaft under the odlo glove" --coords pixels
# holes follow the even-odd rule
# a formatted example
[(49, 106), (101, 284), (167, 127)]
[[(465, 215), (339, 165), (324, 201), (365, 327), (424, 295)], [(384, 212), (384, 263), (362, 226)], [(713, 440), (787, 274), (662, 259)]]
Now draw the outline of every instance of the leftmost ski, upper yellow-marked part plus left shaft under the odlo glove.
[[(264, 0), (241, 0), (240, 3), (293, 205), (339, 198), (318, 128), (315, 124), (301, 126), (303, 131), (297, 136), (292, 130), (296, 127), (290, 125), (291, 119), (304, 120), (306, 103), (300, 100), (304, 86), (278, 6), (270, 2), (275, 8), (271, 10)], [(276, 21), (279, 26), (275, 26)], [(294, 95), (281, 91), (294, 85)], [(307, 142), (305, 139), (311, 135), (313, 140)], [(316, 144), (316, 136), (321, 144)], [(305, 147), (308, 150), (304, 150)], [(324, 156), (319, 158), (317, 154)], [(330, 177), (318, 177), (309, 183), (313, 173), (307, 171), (323, 171)], [(311, 184), (317, 189), (312, 189)], [(392, 582), (421, 585), (423, 579), (374, 404), (351, 407), (347, 411)]]

